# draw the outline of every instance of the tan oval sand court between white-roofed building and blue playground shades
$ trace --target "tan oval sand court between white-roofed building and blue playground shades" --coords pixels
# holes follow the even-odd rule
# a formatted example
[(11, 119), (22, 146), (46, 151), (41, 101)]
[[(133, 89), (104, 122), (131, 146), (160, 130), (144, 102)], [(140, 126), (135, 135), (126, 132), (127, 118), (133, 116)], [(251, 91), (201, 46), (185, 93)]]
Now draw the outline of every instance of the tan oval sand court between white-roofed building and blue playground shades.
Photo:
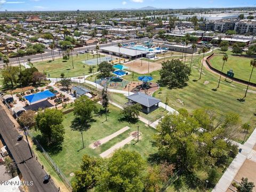
[(158, 62), (148, 62), (141, 60), (131, 61), (125, 63), (125, 66), (128, 67), (131, 71), (134, 71), (139, 74), (147, 74), (153, 71), (159, 70), (162, 68), (162, 64)]

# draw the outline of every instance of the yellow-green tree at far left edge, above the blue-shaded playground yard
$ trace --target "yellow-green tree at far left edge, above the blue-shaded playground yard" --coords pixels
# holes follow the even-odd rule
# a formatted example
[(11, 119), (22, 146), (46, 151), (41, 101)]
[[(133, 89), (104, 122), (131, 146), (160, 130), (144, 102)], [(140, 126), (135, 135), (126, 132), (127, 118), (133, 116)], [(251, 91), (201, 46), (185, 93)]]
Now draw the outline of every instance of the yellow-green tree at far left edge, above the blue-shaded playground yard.
[(2, 76), (4, 78), (3, 83), (8, 85), (11, 83), (12, 87), (13, 84), (18, 83), (18, 75), (20, 73), (19, 67), (7, 66), (5, 69), (2, 70)]

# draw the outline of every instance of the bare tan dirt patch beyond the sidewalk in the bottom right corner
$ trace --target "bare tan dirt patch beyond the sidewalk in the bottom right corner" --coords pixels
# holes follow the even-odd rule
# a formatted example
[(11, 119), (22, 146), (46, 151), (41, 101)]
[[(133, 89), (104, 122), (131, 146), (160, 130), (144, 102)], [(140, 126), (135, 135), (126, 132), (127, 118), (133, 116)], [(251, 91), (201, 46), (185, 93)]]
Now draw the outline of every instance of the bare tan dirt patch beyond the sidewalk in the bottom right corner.
[[(249, 159), (246, 159), (244, 164), (239, 169), (238, 173), (236, 174), (235, 180), (241, 182), (242, 177), (248, 178), (249, 181), (256, 183), (256, 162), (253, 162)], [(255, 187), (253, 190), (255, 191)]]

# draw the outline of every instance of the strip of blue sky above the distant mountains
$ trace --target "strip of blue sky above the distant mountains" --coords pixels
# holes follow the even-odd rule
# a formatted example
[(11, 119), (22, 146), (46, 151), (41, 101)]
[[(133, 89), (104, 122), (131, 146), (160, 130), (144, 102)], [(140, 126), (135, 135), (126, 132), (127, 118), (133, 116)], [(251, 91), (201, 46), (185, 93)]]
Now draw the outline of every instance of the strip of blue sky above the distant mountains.
[(145, 6), (182, 9), (187, 7), (255, 6), (255, 4), (254, 0), (0, 0), (0, 10), (111, 10)]

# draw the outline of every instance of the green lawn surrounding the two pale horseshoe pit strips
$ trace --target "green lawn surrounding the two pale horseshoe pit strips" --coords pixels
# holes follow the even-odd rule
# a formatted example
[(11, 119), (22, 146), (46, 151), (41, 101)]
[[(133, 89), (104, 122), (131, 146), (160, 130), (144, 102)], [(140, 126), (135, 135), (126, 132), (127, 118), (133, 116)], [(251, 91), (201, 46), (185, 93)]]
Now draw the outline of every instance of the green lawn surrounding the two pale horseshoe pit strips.
[[(97, 106), (100, 108), (100, 105)], [(121, 113), (121, 109), (113, 105), (110, 105), (108, 109), (109, 114), (107, 117), (107, 121), (105, 121), (105, 114), (93, 115), (93, 119), (95, 120), (95, 122), (91, 123), (90, 129), (83, 132), (85, 148), (80, 150), (79, 152), (77, 150), (82, 148), (81, 133), (79, 131), (73, 131), (70, 129), (71, 122), (73, 121), (75, 116), (73, 112), (64, 115), (64, 120), (62, 124), (65, 127), (66, 133), (65, 139), (62, 143), (62, 149), (59, 151), (59, 153), (50, 153), (50, 156), (69, 180), (71, 180), (69, 174), (79, 169), (79, 165), (84, 154), (100, 157), (100, 154), (103, 151), (107, 150), (111, 146), (114, 146), (117, 142), (122, 141), (126, 137), (129, 137), (132, 131), (137, 131), (137, 126), (139, 126), (140, 133), (142, 134), (142, 139), (136, 145), (132, 145), (132, 143), (135, 142), (134, 139), (124, 148), (127, 150), (138, 151), (138, 153), (140, 153), (144, 158), (147, 158), (149, 154), (156, 152), (156, 148), (153, 148), (150, 142), (153, 135), (156, 133), (155, 129), (147, 127), (140, 121), (136, 124), (119, 122), (118, 118), (119, 114)], [(107, 137), (108, 135), (122, 129), (125, 126), (129, 126), (130, 129), (122, 133), (118, 137), (114, 138), (113, 140), (110, 140), (104, 145), (98, 147), (97, 149), (92, 149), (89, 147), (91, 143)], [(47, 151), (46, 147), (45, 149)]]

